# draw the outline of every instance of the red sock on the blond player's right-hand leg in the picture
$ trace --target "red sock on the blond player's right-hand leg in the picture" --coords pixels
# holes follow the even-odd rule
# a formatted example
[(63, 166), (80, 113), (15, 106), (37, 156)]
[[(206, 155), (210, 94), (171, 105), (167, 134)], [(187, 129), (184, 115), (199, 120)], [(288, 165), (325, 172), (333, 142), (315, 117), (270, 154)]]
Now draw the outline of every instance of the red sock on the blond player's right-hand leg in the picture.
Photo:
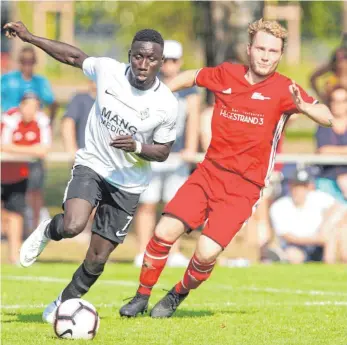
[(216, 260), (209, 263), (201, 263), (195, 255), (189, 262), (183, 279), (176, 284), (175, 290), (179, 294), (186, 294), (191, 289), (196, 289), (202, 282), (207, 280), (211, 275)]

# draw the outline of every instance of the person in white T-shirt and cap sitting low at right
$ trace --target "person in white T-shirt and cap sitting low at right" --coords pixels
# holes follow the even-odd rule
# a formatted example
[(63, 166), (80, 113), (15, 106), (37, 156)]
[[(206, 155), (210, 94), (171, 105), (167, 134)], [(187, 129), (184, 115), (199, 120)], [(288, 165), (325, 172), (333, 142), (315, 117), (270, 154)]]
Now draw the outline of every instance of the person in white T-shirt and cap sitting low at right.
[[(346, 259), (347, 212), (331, 195), (314, 190), (307, 170), (290, 180), (290, 195), (273, 203), (271, 223), (289, 263)], [(343, 230), (344, 229), (344, 230)]]

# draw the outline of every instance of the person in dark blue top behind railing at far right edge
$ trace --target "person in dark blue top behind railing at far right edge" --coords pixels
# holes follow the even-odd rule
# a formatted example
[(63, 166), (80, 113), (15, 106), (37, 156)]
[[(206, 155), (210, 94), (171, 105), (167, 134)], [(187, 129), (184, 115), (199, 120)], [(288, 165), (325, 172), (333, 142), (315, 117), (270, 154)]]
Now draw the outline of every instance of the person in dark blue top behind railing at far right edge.
[[(319, 127), (316, 133), (318, 153), (347, 157), (347, 91), (337, 86), (331, 93), (329, 105), (334, 115), (334, 127)], [(317, 189), (347, 203), (347, 165), (324, 165), (316, 181)]]

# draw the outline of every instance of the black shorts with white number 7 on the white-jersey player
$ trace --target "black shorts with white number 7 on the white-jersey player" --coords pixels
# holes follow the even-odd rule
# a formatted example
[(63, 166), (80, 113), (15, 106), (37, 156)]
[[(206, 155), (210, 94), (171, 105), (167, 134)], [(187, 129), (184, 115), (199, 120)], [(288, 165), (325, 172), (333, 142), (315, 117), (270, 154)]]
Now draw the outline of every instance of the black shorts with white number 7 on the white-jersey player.
[(122, 243), (135, 214), (140, 194), (128, 193), (112, 186), (94, 170), (78, 165), (72, 169), (64, 203), (74, 198), (86, 200), (97, 207), (92, 232), (112, 242)]

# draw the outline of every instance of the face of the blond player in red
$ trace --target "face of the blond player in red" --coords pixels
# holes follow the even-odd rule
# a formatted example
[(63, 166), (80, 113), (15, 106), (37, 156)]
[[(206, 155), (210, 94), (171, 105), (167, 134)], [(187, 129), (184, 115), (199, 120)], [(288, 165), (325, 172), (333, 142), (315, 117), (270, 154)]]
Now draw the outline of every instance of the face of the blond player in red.
[(247, 47), (250, 68), (260, 77), (275, 72), (282, 58), (282, 40), (264, 31), (259, 31)]

